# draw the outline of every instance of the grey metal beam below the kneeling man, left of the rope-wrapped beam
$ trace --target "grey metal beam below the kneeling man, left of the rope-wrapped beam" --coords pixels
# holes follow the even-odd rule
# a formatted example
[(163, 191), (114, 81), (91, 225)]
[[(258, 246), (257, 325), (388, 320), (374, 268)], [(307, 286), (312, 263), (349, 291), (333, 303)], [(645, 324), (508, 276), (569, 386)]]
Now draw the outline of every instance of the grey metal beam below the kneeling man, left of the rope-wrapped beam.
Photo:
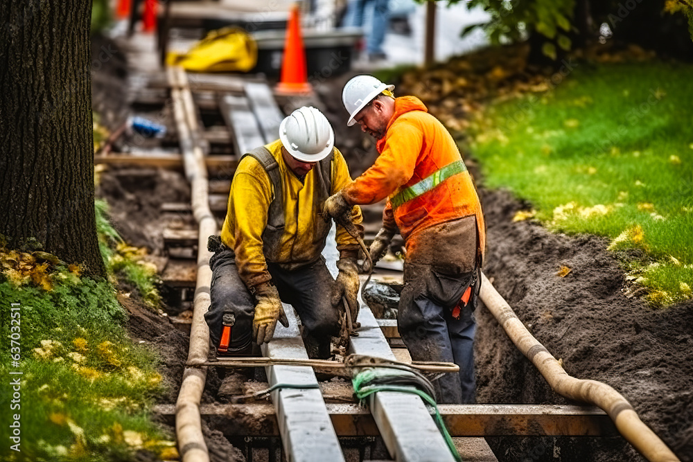
[[(296, 314), (290, 305), (284, 305), (284, 311), (289, 327), (277, 324), (274, 338), (262, 347), (263, 355), (271, 359), (308, 359)], [(265, 372), (270, 387), (277, 384), (306, 387), (277, 389), (271, 395), (288, 461), (344, 461), (313, 368), (266, 366)]]

